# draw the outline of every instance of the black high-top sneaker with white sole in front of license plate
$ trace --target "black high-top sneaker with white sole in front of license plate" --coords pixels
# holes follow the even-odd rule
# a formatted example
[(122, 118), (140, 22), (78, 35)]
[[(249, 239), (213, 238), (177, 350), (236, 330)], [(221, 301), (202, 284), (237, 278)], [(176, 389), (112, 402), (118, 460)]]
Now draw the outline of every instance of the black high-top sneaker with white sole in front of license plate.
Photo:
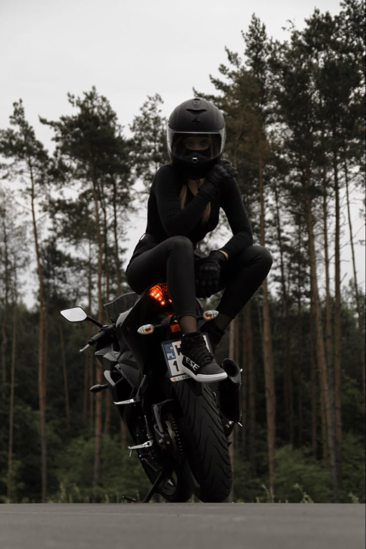
[(211, 383), (228, 377), (207, 349), (205, 339), (199, 332), (183, 335), (181, 351), (182, 369), (196, 381)]

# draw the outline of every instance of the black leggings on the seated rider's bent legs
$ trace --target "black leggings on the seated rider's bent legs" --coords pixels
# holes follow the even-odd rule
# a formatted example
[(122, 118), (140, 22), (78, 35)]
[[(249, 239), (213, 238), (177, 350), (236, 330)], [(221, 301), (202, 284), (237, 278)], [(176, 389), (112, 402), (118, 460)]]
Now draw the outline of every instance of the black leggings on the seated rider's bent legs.
[[(134, 292), (141, 294), (157, 280), (166, 280), (178, 319), (196, 316), (194, 264), (189, 238), (167, 238), (131, 261), (126, 271), (127, 281)], [(229, 259), (221, 271), (219, 287), (224, 292), (217, 311), (235, 318), (260, 287), (271, 266), (272, 256), (263, 246), (250, 246)]]

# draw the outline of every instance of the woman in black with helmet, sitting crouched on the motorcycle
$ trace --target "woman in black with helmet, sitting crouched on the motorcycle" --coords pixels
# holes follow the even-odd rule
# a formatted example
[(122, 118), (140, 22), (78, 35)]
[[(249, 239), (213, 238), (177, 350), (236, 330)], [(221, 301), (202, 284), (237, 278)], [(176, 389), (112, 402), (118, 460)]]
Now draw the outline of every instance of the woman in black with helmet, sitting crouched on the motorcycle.
[[(222, 159), (224, 117), (211, 102), (189, 99), (176, 107), (167, 123), (170, 163), (157, 170), (150, 188), (147, 228), (126, 270), (127, 281), (141, 294), (158, 279), (167, 281), (182, 331), (183, 369), (201, 382), (227, 377), (213, 351), (229, 323), (252, 297), (272, 266), (269, 251), (253, 245), (252, 231), (234, 167)], [(226, 214), (233, 236), (208, 255), (197, 244)], [(195, 298), (224, 290), (218, 316), (200, 330)]]

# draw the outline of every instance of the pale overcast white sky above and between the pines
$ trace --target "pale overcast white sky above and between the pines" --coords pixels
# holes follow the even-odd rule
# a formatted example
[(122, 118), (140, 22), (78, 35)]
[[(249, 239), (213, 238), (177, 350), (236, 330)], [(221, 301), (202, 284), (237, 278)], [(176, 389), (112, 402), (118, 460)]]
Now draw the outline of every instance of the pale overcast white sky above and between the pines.
[[(21, 97), (37, 137), (52, 149), (52, 132), (38, 115), (70, 113), (66, 93), (81, 95), (94, 85), (128, 133), (147, 95), (160, 93), (167, 116), (193, 87), (213, 92), (209, 75), (227, 63), (225, 46), (243, 52), (241, 30), (252, 13), (268, 36), (284, 40), (286, 21), (301, 28), (315, 7), (341, 9), (337, 0), (0, 0), (0, 128)], [(144, 212), (130, 248), (143, 219)], [(364, 281), (361, 248), (358, 257)]]

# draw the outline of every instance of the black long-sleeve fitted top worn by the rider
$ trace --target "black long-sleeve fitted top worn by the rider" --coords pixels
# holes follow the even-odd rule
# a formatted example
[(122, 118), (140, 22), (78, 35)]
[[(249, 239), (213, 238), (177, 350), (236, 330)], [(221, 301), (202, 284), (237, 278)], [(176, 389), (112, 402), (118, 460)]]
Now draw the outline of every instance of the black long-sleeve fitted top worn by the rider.
[[(233, 236), (220, 247), (228, 257), (233, 257), (253, 243), (252, 231), (238, 183), (234, 179), (223, 181), (217, 187), (206, 182), (196, 195), (189, 187), (184, 208), (179, 203), (179, 193), (187, 181), (171, 164), (161, 166), (151, 184), (148, 199), (147, 237), (143, 237), (134, 249), (131, 260), (143, 251), (154, 248), (173, 236), (188, 237), (194, 247), (207, 233), (218, 225), (219, 210), (227, 216)], [(210, 217), (202, 221), (202, 213), (211, 203)]]

